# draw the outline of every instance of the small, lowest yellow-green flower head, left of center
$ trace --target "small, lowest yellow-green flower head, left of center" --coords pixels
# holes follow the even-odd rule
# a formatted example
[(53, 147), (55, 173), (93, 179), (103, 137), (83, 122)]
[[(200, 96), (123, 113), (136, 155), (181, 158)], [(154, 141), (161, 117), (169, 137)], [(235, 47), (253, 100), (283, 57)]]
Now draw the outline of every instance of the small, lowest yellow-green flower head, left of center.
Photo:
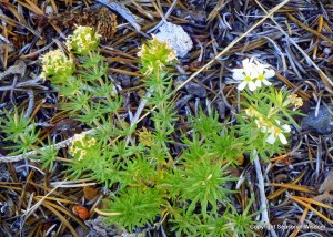
[(82, 161), (90, 151), (95, 151), (95, 138), (89, 138), (84, 134), (77, 134), (73, 138), (72, 145), (69, 148), (69, 153), (78, 161)]

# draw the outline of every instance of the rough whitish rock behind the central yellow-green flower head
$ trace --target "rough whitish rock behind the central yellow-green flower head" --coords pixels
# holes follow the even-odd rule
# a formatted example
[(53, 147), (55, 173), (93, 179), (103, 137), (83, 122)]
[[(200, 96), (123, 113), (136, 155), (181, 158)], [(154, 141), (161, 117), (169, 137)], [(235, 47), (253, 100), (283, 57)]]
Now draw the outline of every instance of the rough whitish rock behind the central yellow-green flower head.
[(182, 27), (168, 22), (162, 24), (159, 30), (160, 32), (155, 35), (157, 39), (160, 42), (168, 42), (170, 48), (176, 51), (179, 58), (185, 56), (193, 48), (190, 35)]

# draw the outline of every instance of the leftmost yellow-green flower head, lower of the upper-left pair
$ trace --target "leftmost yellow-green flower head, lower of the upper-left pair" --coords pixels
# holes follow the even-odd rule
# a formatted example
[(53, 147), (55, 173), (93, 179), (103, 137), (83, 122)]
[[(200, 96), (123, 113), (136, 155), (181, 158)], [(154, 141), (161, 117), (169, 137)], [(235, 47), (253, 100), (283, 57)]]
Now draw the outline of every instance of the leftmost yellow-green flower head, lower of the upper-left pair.
[(67, 58), (60, 50), (46, 53), (42, 58), (41, 78), (47, 76), (65, 79), (73, 74), (75, 64), (72, 59)]

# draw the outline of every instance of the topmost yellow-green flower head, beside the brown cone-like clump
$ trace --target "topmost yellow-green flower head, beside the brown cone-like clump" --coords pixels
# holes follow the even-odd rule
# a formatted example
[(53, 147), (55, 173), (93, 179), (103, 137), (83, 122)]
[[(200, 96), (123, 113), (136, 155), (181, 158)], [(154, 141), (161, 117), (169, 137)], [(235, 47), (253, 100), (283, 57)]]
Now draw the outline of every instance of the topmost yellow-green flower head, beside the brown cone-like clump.
[(67, 39), (67, 47), (82, 55), (98, 49), (101, 35), (90, 27), (79, 25), (72, 35)]

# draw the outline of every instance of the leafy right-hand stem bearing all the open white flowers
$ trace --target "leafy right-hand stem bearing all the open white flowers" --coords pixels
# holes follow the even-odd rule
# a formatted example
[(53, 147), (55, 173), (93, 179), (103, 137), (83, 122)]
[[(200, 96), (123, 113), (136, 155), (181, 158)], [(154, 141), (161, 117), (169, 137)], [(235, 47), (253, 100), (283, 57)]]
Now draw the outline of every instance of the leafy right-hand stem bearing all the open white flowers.
[[(248, 143), (245, 150), (253, 159), (258, 154), (268, 159), (274, 153), (282, 152), (287, 144), (292, 125), (299, 126), (293, 115), (302, 115), (296, 111), (303, 102), (296, 94), (276, 90), (268, 81), (274, 70), (254, 59), (243, 60), (243, 69), (234, 69), (233, 78), (241, 81), (242, 113), (238, 115), (239, 135)], [(249, 85), (249, 90), (245, 86)]]

